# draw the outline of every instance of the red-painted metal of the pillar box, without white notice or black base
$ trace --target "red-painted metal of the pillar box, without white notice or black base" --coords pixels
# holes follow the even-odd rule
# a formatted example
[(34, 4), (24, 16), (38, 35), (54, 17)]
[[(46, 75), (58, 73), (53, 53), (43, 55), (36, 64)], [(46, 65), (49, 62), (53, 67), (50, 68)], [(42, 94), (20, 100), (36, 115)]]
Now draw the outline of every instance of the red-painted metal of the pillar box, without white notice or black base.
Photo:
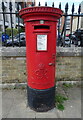
[[(61, 15), (60, 9), (52, 7), (28, 7), (20, 11), (26, 31), (27, 83), (33, 89), (55, 86), (56, 30)], [(37, 50), (38, 35), (47, 36), (47, 50)]]

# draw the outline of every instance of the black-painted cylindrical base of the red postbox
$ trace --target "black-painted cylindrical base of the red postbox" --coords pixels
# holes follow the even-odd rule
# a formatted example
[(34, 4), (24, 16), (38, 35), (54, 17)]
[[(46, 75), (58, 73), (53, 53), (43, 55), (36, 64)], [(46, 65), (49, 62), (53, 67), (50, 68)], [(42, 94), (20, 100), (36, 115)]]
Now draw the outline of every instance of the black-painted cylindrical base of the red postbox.
[(55, 107), (55, 87), (38, 90), (27, 87), (28, 105), (37, 112), (46, 112)]

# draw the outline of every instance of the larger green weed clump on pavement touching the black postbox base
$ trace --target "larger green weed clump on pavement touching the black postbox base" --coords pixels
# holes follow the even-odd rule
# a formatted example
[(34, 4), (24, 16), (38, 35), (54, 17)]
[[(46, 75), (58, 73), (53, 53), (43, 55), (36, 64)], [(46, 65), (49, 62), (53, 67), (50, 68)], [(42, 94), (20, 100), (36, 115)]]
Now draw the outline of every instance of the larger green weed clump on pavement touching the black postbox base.
[(56, 107), (59, 109), (59, 110), (64, 110), (64, 101), (68, 100), (67, 97), (64, 97), (62, 96), (61, 94), (57, 94), (56, 95), (56, 98), (55, 98), (55, 101), (56, 101)]

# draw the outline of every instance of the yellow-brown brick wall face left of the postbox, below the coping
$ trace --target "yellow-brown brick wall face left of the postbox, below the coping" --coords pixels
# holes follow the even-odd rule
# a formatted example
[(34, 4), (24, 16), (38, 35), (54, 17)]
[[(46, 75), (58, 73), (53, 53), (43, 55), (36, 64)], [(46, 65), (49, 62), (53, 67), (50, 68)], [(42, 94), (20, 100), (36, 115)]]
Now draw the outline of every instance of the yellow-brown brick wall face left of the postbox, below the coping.
[(26, 82), (25, 57), (2, 58), (2, 83)]

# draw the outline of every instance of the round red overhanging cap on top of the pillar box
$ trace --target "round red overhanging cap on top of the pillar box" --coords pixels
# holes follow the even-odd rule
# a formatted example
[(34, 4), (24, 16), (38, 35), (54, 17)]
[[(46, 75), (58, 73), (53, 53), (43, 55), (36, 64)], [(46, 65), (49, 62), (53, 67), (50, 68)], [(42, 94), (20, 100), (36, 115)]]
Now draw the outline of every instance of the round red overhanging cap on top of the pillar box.
[(57, 21), (62, 14), (61, 9), (47, 6), (27, 7), (19, 11), (19, 15), (24, 21), (41, 19)]

